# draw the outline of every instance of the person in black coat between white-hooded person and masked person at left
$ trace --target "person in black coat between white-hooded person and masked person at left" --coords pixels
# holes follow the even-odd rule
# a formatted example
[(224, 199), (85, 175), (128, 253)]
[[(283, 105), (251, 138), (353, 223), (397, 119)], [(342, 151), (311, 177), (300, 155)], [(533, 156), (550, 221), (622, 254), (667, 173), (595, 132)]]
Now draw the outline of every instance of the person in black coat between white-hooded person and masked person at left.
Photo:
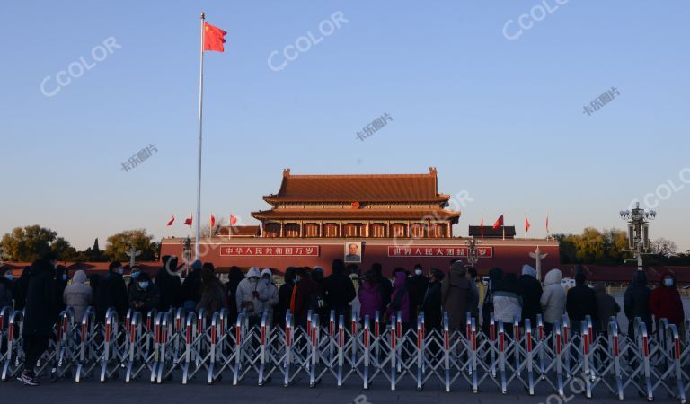
[(105, 321), (109, 308), (118, 313), (119, 321), (123, 321), (129, 307), (127, 286), (122, 274), (125, 269), (119, 261), (111, 262), (108, 273), (101, 279), (98, 291), (93, 294), (93, 305), (96, 309), (96, 321)]

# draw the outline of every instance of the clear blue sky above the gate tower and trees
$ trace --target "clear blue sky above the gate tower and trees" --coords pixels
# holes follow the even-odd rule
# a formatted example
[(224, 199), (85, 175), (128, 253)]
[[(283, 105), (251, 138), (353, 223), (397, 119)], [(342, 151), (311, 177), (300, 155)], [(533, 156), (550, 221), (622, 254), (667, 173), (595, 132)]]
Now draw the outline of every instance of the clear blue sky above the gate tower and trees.
[[(690, 4), (571, 0), (506, 39), (506, 22), (535, 4), (4, 2), (0, 233), (41, 224), (83, 249), (132, 228), (160, 238), (176, 215), (176, 234), (187, 234), (205, 11), (228, 32), (226, 52), (206, 56), (205, 221), (213, 212), (254, 223), (249, 213), (267, 207), (261, 196), (279, 189), (286, 167), (436, 166), (441, 192), (473, 198), (456, 234), (482, 212), (485, 222), (505, 213), (518, 233), (527, 214), (539, 237), (547, 211), (553, 233), (623, 228), (619, 210), (672, 180), (678, 190), (656, 206), (652, 236), (690, 248), (690, 184), (679, 177), (690, 167)], [(283, 70), (269, 68), (271, 52), (282, 63), (283, 48), (308, 31), (318, 40), (338, 11), (349, 22)], [(91, 65), (110, 37), (121, 48), (43, 95), (46, 76), (53, 91), (58, 72), (80, 57)], [(611, 87), (614, 101), (583, 113)], [(358, 140), (385, 112), (394, 120)], [(121, 170), (149, 144), (158, 152)]]

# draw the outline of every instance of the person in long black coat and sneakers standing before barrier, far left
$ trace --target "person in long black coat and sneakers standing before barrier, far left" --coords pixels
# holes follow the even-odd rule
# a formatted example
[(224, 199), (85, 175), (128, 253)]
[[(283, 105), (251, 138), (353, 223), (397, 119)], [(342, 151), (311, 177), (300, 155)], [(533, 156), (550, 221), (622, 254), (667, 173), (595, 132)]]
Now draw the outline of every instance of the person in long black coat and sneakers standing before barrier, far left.
[(58, 316), (57, 282), (55, 267), (57, 257), (46, 254), (31, 264), (24, 312), (23, 348), (25, 353), (24, 370), (18, 380), (26, 385), (39, 384), (33, 369), (49, 340), (55, 338), (53, 326)]

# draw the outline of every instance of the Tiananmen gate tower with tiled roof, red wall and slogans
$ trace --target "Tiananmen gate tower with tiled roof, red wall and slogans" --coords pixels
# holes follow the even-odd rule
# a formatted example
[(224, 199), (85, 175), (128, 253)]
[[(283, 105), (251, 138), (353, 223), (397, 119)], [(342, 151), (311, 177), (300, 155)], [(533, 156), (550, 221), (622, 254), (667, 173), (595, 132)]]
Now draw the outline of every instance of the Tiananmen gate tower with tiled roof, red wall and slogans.
[[(329, 273), (337, 258), (364, 269), (380, 262), (387, 273), (417, 263), (447, 270), (451, 259), (466, 260), (470, 238), (453, 234), (461, 213), (448, 209), (451, 197), (438, 192), (437, 175), (433, 167), (423, 174), (366, 175), (294, 175), (286, 169), (278, 193), (263, 197), (270, 208), (252, 212), (261, 225), (216, 229), (201, 239), (201, 259), (219, 272), (231, 266), (282, 272), (288, 266), (318, 265)], [(529, 253), (537, 246), (547, 254), (543, 268), (558, 267), (558, 242), (515, 239), (513, 227), (506, 231), (505, 240), (475, 237), (475, 267), (482, 273), (534, 266)], [(193, 259), (186, 252), (193, 250), (193, 241), (185, 249), (185, 240), (165, 238), (161, 255)]]

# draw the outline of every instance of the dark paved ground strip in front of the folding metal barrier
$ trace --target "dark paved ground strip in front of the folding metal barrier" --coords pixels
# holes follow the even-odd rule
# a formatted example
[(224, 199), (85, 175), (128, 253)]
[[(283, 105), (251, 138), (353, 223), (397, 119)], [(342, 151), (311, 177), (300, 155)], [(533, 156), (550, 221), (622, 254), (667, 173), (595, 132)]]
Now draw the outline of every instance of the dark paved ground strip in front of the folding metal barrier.
[[(9, 381), (0, 383), (0, 402), (3, 403), (529, 403), (529, 404), (562, 404), (588, 403), (620, 403), (610, 393), (598, 391), (591, 400), (583, 395), (569, 395), (570, 400), (561, 400), (558, 396), (549, 396), (550, 391), (545, 385), (539, 386), (535, 396), (529, 396), (526, 391), (519, 391), (513, 385), (509, 394), (502, 395), (499, 391), (486, 388), (478, 394), (473, 394), (468, 386), (456, 384), (456, 391), (443, 391), (438, 383), (429, 383), (424, 391), (416, 391), (410, 380), (400, 384), (396, 391), (390, 391), (383, 379), (376, 380), (376, 384), (368, 391), (363, 391), (353, 383), (338, 389), (333, 382), (324, 381), (314, 389), (310, 389), (308, 381), (303, 378), (294, 386), (284, 388), (280, 383), (272, 382), (258, 387), (253, 381), (244, 381), (243, 385), (233, 387), (229, 382), (218, 382), (208, 386), (197, 380), (190, 385), (181, 385), (178, 381), (166, 382), (162, 385), (152, 385), (144, 381), (124, 384), (121, 381), (100, 383), (87, 379), (82, 383), (75, 382), (44, 382), (38, 387), (23, 386), (20, 382)], [(489, 386), (488, 384), (486, 386)], [(365, 398), (366, 396), (366, 398)], [(666, 395), (656, 397), (656, 402), (673, 402)], [(628, 394), (625, 402), (646, 402), (636, 394)], [(677, 401), (676, 401), (677, 402)]]

